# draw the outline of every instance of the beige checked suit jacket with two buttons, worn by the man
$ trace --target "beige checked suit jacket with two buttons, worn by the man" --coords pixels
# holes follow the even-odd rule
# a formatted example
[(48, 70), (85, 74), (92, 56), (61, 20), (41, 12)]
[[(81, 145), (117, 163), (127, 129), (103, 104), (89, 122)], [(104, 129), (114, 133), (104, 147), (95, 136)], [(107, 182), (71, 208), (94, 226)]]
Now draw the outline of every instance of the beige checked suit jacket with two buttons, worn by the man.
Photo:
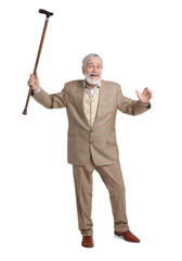
[(73, 80), (58, 94), (49, 95), (41, 89), (34, 98), (48, 109), (66, 108), (68, 163), (86, 165), (92, 154), (95, 165), (114, 164), (119, 160), (115, 132), (117, 109), (138, 115), (147, 111), (151, 103), (146, 108), (139, 100), (126, 98), (118, 84), (102, 79), (96, 116), (90, 127), (83, 112), (83, 80)]

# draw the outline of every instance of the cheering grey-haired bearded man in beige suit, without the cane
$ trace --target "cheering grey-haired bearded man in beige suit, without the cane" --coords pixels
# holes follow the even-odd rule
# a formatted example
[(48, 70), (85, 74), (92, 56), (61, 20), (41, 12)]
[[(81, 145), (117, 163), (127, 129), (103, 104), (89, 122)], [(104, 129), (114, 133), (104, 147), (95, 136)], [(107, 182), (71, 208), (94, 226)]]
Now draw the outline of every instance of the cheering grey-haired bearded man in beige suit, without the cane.
[(121, 87), (102, 79), (103, 60), (91, 53), (82, 60), (84, 79), (65, 84), (61, 92), (49, 95), (41, 87), (38, 75), (30, 75), (28, 85), (32, 97), (48, 109), (66, 108), (68, 116), (67, 161), (73, 164), (78, 226), (81, 245), (93, 247), (91, 220), (92, 172), (96, 170), (106, 185), (114, 215), (114, 233), (125, 240), (139, 243), (128, 225), (125, 184), (115, 133), (117, 109), (138, 115), (151, 108), (153, 96), (148, 88), (139, 100), (126, 98)]

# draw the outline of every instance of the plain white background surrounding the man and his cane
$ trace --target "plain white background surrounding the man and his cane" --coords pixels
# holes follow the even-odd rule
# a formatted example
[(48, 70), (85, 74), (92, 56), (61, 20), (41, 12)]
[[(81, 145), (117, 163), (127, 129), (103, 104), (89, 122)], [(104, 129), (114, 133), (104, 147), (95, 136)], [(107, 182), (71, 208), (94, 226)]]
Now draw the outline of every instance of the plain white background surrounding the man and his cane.
[[(119, 157), (127, 189), (130, 244), (114, 236), (108, 192), (93, 172), (93, 249), (81, 247), (72, 164), (67, 163), (66, 110), (47, 110), (28, 92), (44, 24), (41, 86), (58, 92), (82, 78), (90, 52), (104, 60), (103, 78), (125, 96), (154, 91), (152, 109), (117, 113)], [(181, 260), (181, 1), (10, 1), (0, 26), (0, 260)]]

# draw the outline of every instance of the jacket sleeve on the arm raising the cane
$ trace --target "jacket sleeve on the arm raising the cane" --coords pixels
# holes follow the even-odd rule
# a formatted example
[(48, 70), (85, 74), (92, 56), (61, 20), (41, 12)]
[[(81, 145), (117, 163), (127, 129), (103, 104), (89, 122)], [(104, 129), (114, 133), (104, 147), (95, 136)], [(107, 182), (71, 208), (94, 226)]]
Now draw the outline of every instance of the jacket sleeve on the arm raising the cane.
[(40, 92), (34, 95), (32, 98), (48, 109), (57, 109), (67, 105), (68, 92), (65, 85), (61, 92), (49, 95), (43, 89), (41, 89)]

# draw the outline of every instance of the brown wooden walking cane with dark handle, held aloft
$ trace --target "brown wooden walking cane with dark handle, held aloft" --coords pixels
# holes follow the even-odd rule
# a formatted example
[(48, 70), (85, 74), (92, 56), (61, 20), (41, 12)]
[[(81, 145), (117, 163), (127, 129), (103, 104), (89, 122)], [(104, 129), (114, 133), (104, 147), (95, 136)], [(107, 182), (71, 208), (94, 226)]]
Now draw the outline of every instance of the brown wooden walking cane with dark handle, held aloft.
[[(34, 75), (36, 75), (36, 73), (37, 73), (37, 67), (38, 67), (38, 63), (39, 63), (39, 59), (40, 59), (41, 49), (42, 49), (42, 46), (43, 46), (43, 40), (44, 40), (47, 27), (48, 27), (49, 17), (51, 15), (53, 15), (53, 13), (50, 13), (50, 12), (43, 10), (43, 9), (39, 9), (39, 13), (46, 14), (47, 18), (46, 18), (46, 22), (44, 22), (43, 33), (42, 33), (42, 37), (41, 37), (41, 40), (40, 40), (40, 46), (39, 46), (39, 50), (38, 50), (38, 54), (37, 54), (37, 59), (36, 59), (36, 64), (35, 64), (35, 69), (34, 69), (34, 73), (32, 73)], [(27, 114), (27, 107), (28, 107), (30, 95), (31, 95), (31, 87), (29, 87), (28, 97), (27, 97), (27, 100), (26, 100), (26, 105), (25, 105), (25, 109), (23, 111), (24, 115)]]

